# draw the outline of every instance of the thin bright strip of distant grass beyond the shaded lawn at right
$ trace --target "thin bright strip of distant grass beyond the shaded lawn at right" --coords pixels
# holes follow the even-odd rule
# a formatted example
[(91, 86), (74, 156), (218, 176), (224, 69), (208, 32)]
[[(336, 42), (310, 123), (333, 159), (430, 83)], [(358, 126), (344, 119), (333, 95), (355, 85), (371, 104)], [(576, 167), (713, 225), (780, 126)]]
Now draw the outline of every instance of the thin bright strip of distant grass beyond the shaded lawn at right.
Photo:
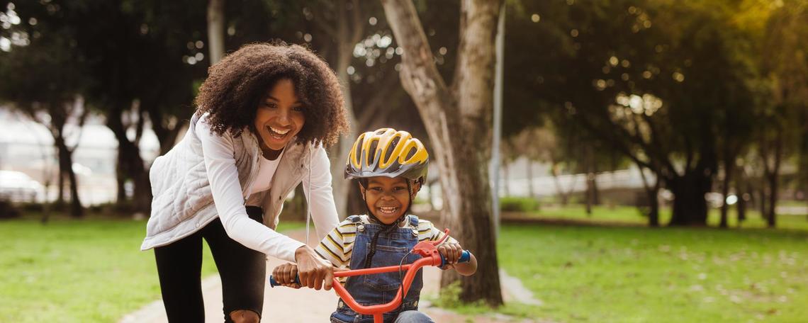
[[(530, 217), (539, 219), (562, 219), (562, 220), (583, 220), (583, 221), (596, 221), (617, 224), (647, 224), (648, 218), (642, 216), (638, 208), (625, 207), (625, 206), (595, 206), (592, 209), (592, 214), (587, 215), (583, 205), (570, 204), (566, 207), (546, 207), (541, 211), (532, 213), (522, 213)], [(671, 220), (670, 208), (663, 208), (659, 215), (661, 224), (667, 224)], [(720, 212), (718, 209), (710, 209), (707, 216), (707, 224), (709, 226), (717, 227), (720, 222)], [(738, 216), (734, 208), (730, 208), (728, 215), (728, 223), (731, 228), (738, 227)], [(747, 211), (747, 220), (741, 224), (743, 228), (765, 228), (766, 222), (760, 212), (756, 210)], [(808, 216), (806, 215), (778, 215), (777, 225), (778, 229), (801, 229), (808, 230)]]

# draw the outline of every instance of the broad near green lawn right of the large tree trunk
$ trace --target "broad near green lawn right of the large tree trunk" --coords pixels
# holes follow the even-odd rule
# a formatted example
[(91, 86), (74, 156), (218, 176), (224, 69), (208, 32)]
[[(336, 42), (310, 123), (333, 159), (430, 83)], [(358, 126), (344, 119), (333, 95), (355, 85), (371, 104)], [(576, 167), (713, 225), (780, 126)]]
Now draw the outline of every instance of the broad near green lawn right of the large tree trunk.
[[(553, 321), (804, 321), (808, 233), (504, 225), (500, 267)], [(527, 250), (530, 250), (529, 252)]]

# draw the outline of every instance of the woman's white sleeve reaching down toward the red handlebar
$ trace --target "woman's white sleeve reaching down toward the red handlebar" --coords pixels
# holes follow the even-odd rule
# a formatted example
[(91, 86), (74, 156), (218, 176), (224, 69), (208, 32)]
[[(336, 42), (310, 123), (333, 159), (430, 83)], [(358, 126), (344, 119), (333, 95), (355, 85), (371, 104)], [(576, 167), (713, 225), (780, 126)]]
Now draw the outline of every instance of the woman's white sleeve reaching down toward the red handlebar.
[(204, 117), (196, 124), (196, 135), (202, 141), (213, 203), (227, 235), (252, 250), (294, 262), (295, 252), (303, 243), (276, 233), (251, 220), (246, 214), (242, 187), (238, 182), (238, 169), (233, 157), (233, 139), (226, 133), (218, 136), (210, 132), (210, 126), (204, 122)]

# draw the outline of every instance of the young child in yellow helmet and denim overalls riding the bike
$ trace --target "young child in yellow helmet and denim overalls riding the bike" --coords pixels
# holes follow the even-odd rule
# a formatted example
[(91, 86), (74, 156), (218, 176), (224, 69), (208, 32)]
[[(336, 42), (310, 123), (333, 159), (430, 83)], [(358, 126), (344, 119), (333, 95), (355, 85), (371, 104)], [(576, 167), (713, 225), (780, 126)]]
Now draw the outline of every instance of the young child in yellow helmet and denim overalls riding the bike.
[[(408, 264), (420, 258), (408, 254), (419, 241), (436, 241), (445, 233), (431, 222), (408, 215), (415, 195), (427, 178), (429, 154), (418, 139), (409, 132), (381, 128), (365, 132), (356, 139), (348, 154), (345, 178), (356, 179), (368, 209), (367, 215), (349, 216), (326, 236), (315, 251), (339, 268), (362, 269)], [(461, 275), (477, 271), (477, 259), (457, 263), (463, 248), (452, 237), (438, 246), (447, 260), (444, 270), (454, 269)], [(406, 258), (405, 258), (406, 257)], [(403, 262), (402, 262), (403, 259)], [(297, 267), (277, 266), (272, 275), (288, 287), (293, 283)], [(364, 305), (385, 304), (393, 300), (401, 276), (398, 272), (349, 277), (345, 288)], [(397, 310), (385, 313), (385, 322), (431, 322), (418, 312), (418, 300), (423, 287), (422, 272), (415, 275), (410, 290)], [(331, 322), (372, 322), (371, 315), (354, 312), (342, 300), (331, 314)]]

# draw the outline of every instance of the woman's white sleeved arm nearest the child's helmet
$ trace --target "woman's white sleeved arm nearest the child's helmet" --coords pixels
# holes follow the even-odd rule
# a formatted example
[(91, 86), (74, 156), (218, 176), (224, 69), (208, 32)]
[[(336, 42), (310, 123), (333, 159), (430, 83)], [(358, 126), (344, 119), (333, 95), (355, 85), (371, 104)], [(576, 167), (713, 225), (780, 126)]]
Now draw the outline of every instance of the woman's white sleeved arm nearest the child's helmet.
[(309, 181), (309, 170), (304, 170), (306, 174), (303, 175), (303, 191), (306, 201), (311, 206), (311, 216), (314, 219), (314, 228), (317, 229), (318, 240), (322, 240), (339, 224), (339, 219), (334, 203), (334, 192), (331, 190), (331, 167), (326, 149), (321, 145), (312, 150), (309, 164), (311, 180)]

